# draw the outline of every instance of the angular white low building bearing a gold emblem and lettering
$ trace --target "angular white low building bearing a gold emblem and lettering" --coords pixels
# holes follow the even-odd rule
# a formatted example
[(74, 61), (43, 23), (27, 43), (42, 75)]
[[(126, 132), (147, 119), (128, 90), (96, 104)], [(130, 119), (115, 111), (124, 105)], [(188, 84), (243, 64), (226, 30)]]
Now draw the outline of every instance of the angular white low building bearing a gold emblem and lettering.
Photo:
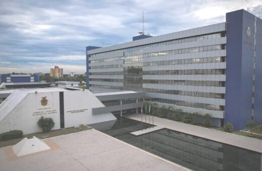
[(99, 107), (105, 106), (89, 90), (15, 90), (0, 104), (0, 133), (15, 129), (24, 134), (42, 132), (37, 125), (41, 116), (53, 119), (52, 130), (116, 120), (110, 112), (93, 114), (92, 108)]

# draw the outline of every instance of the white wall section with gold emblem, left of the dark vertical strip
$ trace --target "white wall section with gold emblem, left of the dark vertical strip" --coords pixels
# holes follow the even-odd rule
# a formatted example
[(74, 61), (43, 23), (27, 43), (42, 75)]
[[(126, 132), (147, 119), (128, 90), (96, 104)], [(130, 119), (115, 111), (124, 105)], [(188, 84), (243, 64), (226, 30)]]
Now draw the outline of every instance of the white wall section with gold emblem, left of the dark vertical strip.
[[(42, 97), (48, 100), (46, 106), (41, 105)], [(24, 134), (41, 132), (37, 125), (41, 116), (53, 118), (55, 125), (52, 129), (60, 129), (59, 92), (29, 93), (0, 122), (0, 133), (15, 129)]]

